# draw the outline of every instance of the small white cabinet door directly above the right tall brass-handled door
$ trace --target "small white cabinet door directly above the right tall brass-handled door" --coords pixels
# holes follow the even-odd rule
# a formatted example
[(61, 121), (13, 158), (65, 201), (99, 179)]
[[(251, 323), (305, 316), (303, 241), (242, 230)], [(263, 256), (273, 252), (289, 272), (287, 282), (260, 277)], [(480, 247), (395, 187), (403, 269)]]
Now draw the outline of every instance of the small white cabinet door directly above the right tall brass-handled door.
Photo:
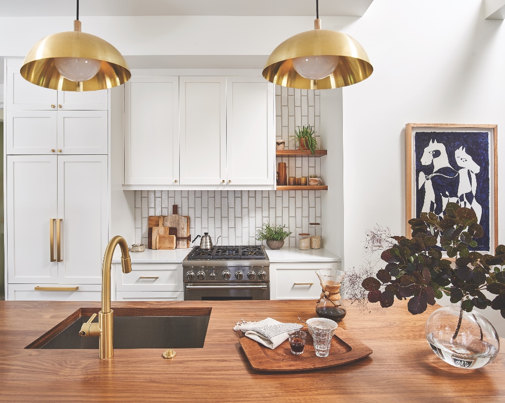
[(58, 148), (63, 154), (107, 154), (107, 110), (59, 110)]

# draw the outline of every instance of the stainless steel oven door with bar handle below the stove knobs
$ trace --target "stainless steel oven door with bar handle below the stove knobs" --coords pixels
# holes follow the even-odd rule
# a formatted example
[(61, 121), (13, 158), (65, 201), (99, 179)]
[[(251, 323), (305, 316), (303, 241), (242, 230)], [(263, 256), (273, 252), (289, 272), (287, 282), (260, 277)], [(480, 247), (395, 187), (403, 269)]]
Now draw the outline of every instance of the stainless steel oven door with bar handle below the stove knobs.
[(270, 282), (184, 283), (184, 301), (269, 300)]

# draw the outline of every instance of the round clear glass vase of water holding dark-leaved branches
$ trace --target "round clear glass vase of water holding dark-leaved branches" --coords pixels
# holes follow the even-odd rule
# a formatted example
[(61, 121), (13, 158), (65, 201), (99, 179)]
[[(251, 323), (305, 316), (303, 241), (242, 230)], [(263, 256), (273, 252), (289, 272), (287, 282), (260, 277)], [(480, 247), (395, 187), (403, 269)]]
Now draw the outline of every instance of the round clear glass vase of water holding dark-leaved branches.
[(483, 315), (461, 309), (461, 301), (438, 308), (426, 322), (426, 340), (447, 364), (477, 369), (491, 364), (500, 349), (498, 333)]

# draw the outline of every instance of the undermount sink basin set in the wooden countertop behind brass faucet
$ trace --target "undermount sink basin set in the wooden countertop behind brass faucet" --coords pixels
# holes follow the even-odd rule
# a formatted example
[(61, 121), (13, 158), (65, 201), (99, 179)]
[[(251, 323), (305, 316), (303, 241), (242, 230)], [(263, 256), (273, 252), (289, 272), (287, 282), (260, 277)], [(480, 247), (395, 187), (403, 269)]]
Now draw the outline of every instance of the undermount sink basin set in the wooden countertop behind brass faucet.
[[(203, 348), (212, 308), (113, 308), (114, 349)], [(98, 349), (79, 330), (99, 308), (80, 308), (27, 349)], [(98, 318), (94, 320), (98, 321)]]

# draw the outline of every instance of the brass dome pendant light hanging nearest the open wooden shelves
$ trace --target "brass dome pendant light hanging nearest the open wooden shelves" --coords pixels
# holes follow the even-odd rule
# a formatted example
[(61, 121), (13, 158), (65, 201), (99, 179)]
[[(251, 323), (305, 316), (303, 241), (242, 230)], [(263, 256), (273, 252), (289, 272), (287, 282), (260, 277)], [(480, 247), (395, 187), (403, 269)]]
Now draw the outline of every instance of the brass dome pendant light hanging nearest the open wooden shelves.
[(330, 89), (359, 83), (373, 70), (356, 39), (321, 29), (316, 0), (314, 30), (294, 35), (277, 46), (267, 60), (263, 77), (283, 87)]

